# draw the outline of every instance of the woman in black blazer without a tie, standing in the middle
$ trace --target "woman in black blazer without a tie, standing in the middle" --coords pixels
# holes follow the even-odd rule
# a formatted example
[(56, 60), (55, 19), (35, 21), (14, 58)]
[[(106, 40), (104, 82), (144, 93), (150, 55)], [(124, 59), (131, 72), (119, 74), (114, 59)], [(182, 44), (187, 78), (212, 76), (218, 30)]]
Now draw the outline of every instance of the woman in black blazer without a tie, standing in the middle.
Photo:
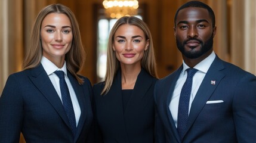
[(157, 78), (147, 25), (120, 18), (109, 36), (105, 81), (93, 87), (96, 142), (154, 142)]

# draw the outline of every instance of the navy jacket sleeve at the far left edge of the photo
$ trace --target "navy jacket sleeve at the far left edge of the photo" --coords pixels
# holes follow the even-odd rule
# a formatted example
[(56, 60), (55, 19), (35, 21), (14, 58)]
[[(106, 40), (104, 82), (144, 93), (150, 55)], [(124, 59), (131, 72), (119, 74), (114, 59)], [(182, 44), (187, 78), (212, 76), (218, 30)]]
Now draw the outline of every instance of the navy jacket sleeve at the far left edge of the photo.
[(23, 120), (23, 99), (20, 81), (12, 74), (8, 77), (0, 97), (0, 142), (19, 142)]

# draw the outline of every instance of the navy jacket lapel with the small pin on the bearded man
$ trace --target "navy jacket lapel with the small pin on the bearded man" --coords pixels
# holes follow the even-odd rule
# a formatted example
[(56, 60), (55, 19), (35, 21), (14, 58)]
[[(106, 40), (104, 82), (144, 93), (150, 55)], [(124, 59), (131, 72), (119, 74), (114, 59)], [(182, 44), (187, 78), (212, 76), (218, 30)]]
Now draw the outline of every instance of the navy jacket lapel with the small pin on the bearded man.
[[(212, 93), (217, 88), (221, 79), (223, 79), (223, 77), (225, 76), (225, 74), (220, 72), (220, 70), (223, 70), (223, 69), (224, 69), (224, 66), (223, 66), (220, 58), (218, 58), (216, 55), (214, 62), (212, 63), (209, 70), (207, 71), (207, 73), (201, 83), (201, 86), (198, 89), (195, 99), (192, 102), (186, 132), (189, 130), (189, 128), (191, 128), (191, 126), (193, 125), (193, 123), (196, 120), (196, 117), (198, 117), (202, 108), (205, 106), (206, 102), (208, 101), (208, 99), (211, 97)], [(212, 80), (215, 80), (214, 85), (211, 84)]]

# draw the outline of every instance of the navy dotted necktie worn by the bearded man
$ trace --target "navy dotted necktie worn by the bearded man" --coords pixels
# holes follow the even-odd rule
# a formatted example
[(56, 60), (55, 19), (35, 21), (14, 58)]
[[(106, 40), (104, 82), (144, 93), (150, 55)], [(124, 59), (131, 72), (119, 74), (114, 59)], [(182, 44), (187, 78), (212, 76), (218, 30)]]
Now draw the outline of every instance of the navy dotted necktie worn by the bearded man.
[(181, 89), (180, 101), (178, 102), (178, 123), (177, 129), (182, 139), (186, 130), (187, 119), (189, 118), (189, 98), (192, 89), (193, 76), (197, 69), (187, 69), (187, 79)]

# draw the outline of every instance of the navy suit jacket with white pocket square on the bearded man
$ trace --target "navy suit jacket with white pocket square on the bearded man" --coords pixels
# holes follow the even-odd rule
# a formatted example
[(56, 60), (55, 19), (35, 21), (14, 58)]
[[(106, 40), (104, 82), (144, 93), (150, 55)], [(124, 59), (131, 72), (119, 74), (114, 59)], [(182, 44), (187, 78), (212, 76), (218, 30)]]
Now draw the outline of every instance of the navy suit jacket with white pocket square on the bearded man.
[[(183, 66), (156, 82), (158, 142), (256, 141), (256, 77), (217, 56), (192, 102), (186, 134), (181, 140), (168, 106), (182, 69)], [(206, 104), (217, 100), (223, 102)]]

